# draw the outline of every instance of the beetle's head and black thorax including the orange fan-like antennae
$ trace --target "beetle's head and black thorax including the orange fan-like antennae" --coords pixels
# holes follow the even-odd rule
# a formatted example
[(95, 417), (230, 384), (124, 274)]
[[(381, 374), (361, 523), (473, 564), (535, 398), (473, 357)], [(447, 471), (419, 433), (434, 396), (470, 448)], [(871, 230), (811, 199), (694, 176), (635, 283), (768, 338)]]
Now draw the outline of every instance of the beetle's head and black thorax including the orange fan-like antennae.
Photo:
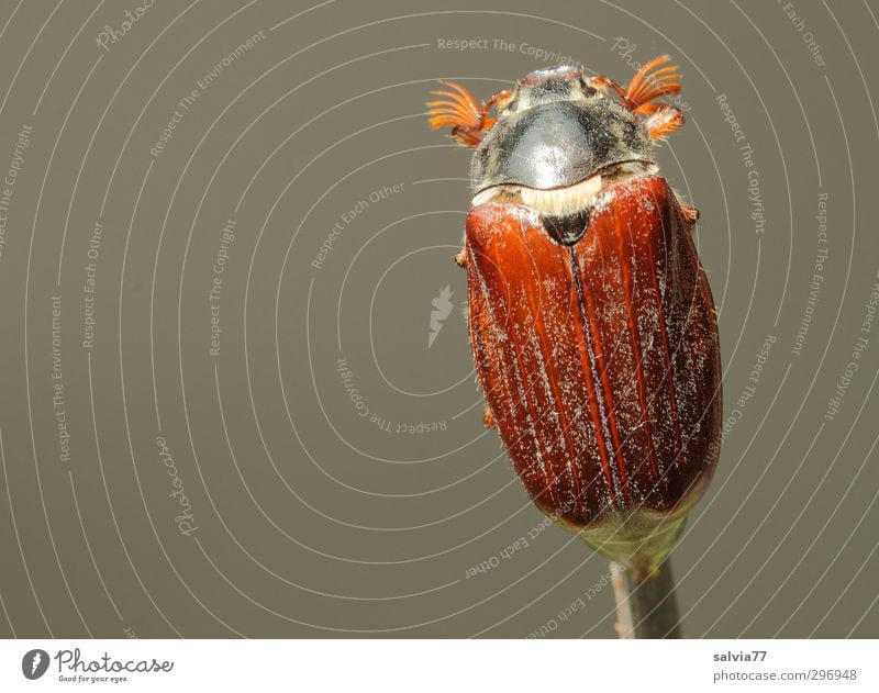
[[(624, 167), (650, 169), (653, 139), (683, 124), (679, 109), (657, 101), (680, 92), (669, 62), (650, 60), (626, 89), (567, 65), (536, 70), (481, 104), (459, 85), (443, 82), (454, 91), (432, 92), (442, 100), (429, 102), (431, 127), (450, 127), (458, 143), (476, 147), (470, 183), (477, 194), (556, 190)], [(497, 116), (489, 115), (492, 108)]]

